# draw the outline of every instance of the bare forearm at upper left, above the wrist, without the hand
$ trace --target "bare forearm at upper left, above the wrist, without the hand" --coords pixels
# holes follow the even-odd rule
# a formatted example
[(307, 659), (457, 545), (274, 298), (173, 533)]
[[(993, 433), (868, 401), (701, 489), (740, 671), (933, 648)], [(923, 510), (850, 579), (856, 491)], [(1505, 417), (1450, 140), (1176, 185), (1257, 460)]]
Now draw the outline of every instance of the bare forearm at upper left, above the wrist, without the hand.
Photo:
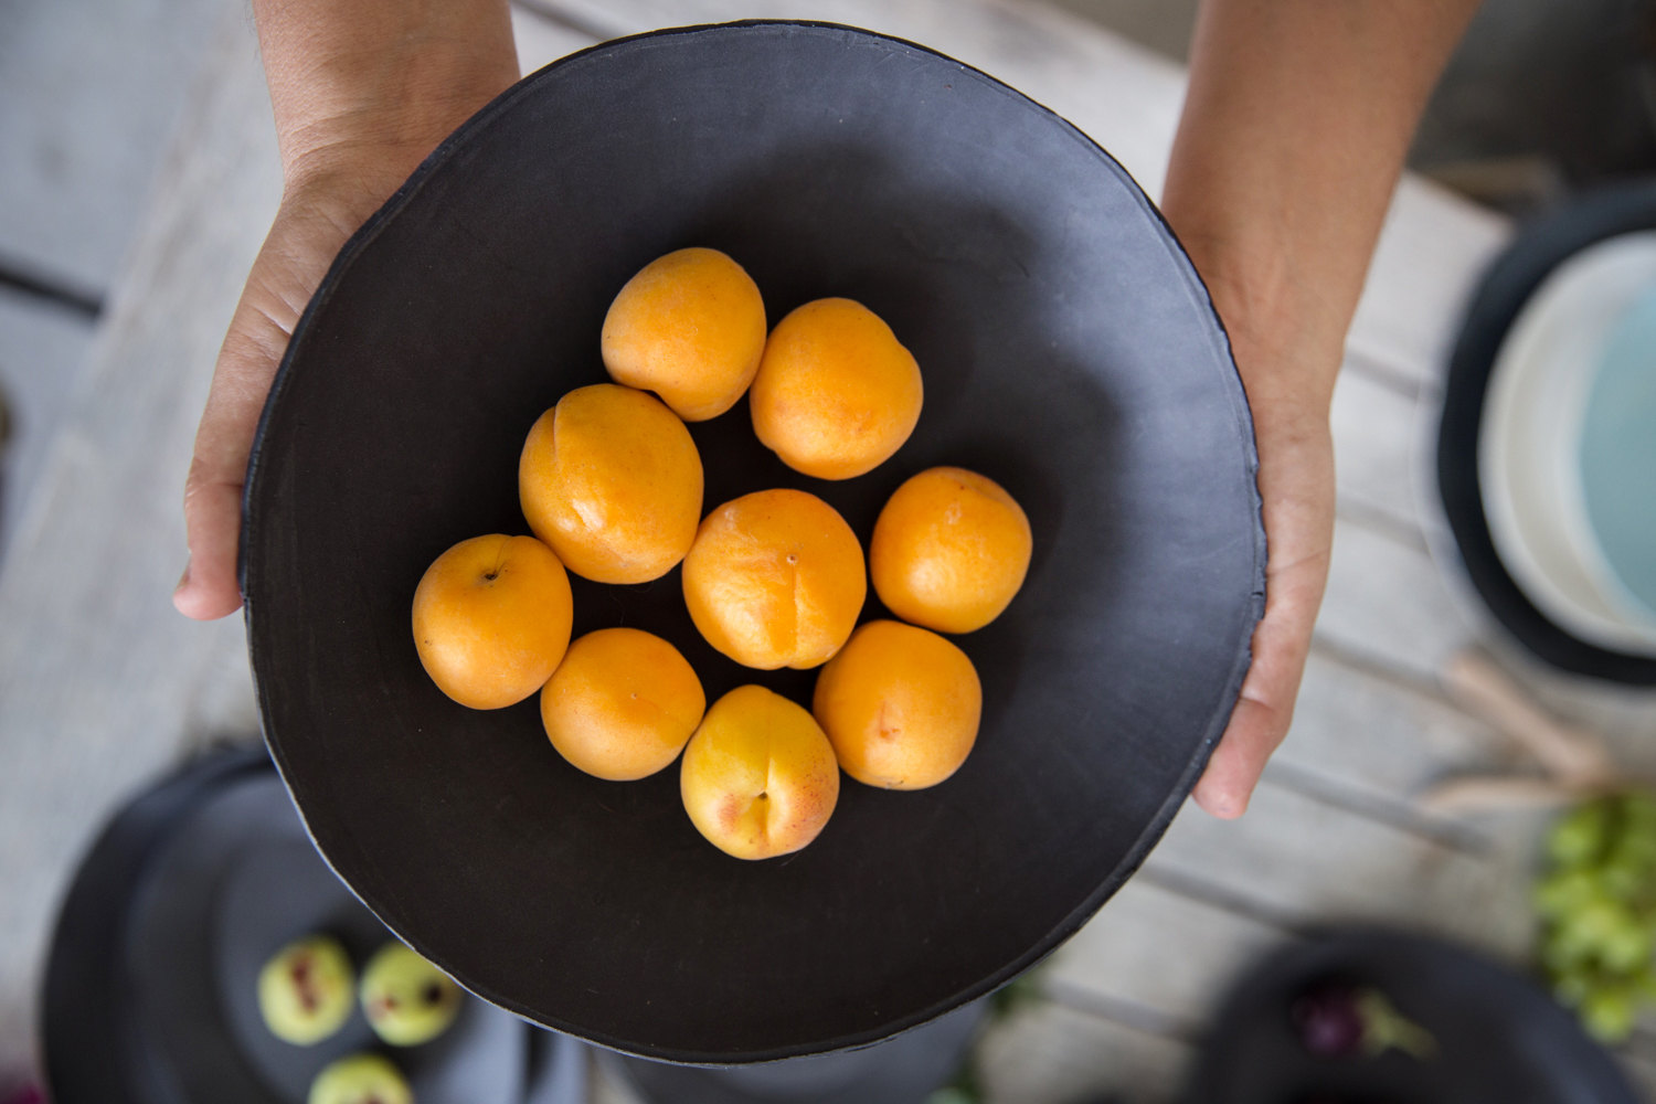
[(518, 76), (505, 0), (253, 0), (290, 189), (407, 175)]

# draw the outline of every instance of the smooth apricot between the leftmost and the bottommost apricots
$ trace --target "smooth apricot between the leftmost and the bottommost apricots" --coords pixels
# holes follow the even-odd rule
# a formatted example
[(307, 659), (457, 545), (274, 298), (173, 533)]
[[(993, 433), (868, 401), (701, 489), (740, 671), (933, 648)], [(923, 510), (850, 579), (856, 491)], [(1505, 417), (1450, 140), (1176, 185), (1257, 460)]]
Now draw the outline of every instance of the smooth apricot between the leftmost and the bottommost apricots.
[(646, 778), (679, 758), (705, 708), (679, 649), (639, 629), (588, 632), (540, 692), (551, 746), (609, 781)]

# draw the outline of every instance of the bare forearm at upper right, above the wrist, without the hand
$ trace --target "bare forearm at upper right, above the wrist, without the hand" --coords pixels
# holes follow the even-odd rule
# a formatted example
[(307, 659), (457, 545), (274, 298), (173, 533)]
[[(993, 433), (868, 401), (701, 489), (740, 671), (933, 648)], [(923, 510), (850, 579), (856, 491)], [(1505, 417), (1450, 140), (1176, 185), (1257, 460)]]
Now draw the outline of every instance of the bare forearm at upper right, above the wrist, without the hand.
[[(1244, 341), (1326, 397), (1416, 121), (1475, 0), (1206, 0), (1163, 209)], [(1257, 386), (1257, 384), (1255, 384)]]

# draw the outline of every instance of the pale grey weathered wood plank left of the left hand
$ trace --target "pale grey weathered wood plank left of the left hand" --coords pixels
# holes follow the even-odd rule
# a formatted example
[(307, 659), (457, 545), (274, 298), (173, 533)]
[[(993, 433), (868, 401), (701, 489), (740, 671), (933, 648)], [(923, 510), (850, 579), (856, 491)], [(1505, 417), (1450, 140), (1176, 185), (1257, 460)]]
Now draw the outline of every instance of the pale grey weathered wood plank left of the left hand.
[[(245, 697), (204, 687), (217, 669), (245, 695), (240, 621), (189, 624), (169, 602), (195, 419), (280, 185), (238, 12), (190, 104), (0, 574), (0, 1064), (28, 1054), (51, 909), (99, 819), (174, 761), (190, 725), (248, 715)], [(209, 700), (235, 717), (200, 713)]]

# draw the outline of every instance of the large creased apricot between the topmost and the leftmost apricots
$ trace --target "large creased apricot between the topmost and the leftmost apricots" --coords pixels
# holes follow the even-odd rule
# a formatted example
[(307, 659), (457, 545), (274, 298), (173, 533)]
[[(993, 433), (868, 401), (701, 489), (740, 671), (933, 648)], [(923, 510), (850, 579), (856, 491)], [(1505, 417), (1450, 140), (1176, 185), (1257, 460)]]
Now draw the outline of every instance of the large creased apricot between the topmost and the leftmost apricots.
[(540, 415), (518, 460), (535, 536), (595, 583), (647, 583), (684, 559), (702, 515), (702, 458), (659, 399), (576, 387)]

